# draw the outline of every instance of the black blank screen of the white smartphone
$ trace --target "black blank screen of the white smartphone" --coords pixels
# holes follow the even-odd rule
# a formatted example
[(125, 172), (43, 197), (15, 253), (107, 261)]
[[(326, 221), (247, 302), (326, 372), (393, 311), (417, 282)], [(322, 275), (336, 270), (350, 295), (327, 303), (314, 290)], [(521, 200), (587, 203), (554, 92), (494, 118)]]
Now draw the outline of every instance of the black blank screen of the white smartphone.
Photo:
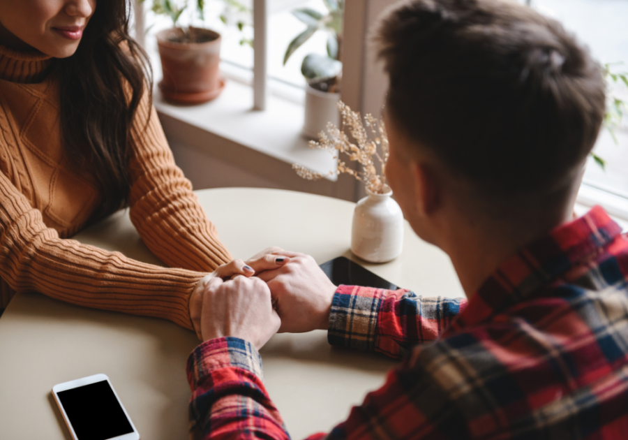
[(107, 381), (59, 391), (57, 396), (79, 440), (107, 440), (133, 432)]

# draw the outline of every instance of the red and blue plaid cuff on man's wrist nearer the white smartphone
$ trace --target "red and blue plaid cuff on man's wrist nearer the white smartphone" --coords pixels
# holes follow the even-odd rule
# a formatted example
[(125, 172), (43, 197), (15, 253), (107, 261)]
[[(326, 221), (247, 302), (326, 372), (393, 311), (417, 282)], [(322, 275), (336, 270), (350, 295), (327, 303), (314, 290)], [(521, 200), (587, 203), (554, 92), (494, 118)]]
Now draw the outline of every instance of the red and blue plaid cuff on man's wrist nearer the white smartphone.
[(209, 339), (197, 346), (188, 357), (188, 382), (195, 390), (199, 382), (221, 368), (241, 368), (262, 379), (262, 358), (251, 342), (239, 337)]

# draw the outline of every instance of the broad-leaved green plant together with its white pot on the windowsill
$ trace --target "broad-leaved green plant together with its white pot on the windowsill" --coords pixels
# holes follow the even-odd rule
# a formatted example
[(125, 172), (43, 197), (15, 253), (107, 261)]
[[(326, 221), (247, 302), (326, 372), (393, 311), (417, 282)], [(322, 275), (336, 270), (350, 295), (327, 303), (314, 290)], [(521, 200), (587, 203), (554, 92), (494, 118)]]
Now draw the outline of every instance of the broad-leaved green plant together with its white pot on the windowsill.
[(306, 78), (305, 121), (303, 133), (317, 138), (327, 122), (336, 125), (340, 115), (336, 104), (340, 101), (342, 74), (341, 59), (344, 0), (323, 0), (327, 15), (311, 8), (299, 8), (292, 15), (307, 25), (305, 31), (294, 37), (283, 57), (283, 65), (292, 54), (317, 31), (327, 33), (327, 55), (308, 54), (301, 63), (301, 73)]

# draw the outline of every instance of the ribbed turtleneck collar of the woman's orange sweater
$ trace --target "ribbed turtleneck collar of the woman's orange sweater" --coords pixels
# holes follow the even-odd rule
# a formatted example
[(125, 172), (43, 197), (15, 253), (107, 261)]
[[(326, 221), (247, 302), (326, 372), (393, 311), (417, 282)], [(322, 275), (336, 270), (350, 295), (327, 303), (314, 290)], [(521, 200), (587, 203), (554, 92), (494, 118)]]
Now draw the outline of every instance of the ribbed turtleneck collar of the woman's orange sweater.
[(0, 79), (32, 83), (42, 81), (52, 57), (42, 52), (17, 52), (0, 45)]

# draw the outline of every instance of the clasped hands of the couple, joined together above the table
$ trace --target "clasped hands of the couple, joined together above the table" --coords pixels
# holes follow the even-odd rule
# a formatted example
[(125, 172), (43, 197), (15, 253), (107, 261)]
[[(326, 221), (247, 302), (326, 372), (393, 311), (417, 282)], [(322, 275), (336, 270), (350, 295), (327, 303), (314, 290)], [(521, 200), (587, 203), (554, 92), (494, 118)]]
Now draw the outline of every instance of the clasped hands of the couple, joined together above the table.
[(335, 292), (311, 256), (269, 248), (202, 278), (190, 317), (203, 341), (232, 336), (260, 349), (277, 331), (327, 330)]

